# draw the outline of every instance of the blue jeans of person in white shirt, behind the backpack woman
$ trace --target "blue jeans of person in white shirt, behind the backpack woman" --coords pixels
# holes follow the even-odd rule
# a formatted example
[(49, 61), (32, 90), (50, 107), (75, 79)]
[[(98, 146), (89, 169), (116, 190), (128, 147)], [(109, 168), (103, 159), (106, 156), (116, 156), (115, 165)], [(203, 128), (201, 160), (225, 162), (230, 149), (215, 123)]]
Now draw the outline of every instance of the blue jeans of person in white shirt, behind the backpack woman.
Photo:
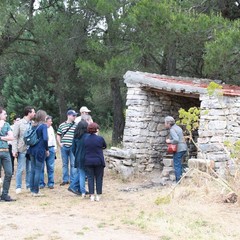
[(55, 149), (54, 147), (49, 148), (49, 156), (46, 157), (42, 172), (41, 172), (41, 177), (40, 177), (40, 187), (45, 187), (45, 182), (44, 182), (44, 168), (45, 168), (45, 163), (47, 167), (47, 176), (48, 176), (48, 187), (53, 187), (54, 186), (54, 166), (55, 166)]

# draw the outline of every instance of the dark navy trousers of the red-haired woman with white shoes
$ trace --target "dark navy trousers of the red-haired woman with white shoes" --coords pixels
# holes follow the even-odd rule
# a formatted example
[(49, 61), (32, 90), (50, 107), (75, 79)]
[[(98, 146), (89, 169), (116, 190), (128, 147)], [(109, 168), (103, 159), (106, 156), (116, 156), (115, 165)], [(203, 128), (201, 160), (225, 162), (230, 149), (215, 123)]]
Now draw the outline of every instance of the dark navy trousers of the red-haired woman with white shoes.
[(103, 166), (86, 166), (86, 173), (88, 178), (89, 194), (94, 194), (94, 182), (96, 181), (97, 194), (102, 194), (103, 185)]

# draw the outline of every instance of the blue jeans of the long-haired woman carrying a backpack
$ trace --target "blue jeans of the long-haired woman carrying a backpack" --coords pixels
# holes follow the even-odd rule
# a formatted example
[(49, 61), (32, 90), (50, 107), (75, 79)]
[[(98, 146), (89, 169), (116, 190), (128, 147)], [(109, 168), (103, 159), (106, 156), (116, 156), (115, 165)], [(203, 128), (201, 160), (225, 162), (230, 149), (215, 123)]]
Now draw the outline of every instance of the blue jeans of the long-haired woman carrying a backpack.
[(30, 155), (30, 158), (31, 158), (30, 190), (32, 193), (38, 193), (43, 162), (38, 161), (32, 155)]

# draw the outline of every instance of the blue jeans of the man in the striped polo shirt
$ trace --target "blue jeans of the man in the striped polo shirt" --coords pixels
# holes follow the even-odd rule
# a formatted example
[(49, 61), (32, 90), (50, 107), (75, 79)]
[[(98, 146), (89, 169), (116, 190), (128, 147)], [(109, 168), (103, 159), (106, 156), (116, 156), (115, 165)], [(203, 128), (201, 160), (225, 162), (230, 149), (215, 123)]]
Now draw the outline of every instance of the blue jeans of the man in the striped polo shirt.
[(69, 161), (70, 161), (70, 182), (74, 180), (77, 174), (77, 169), (74, 168), (74, 155), (71, 147), (61, 147), (62, 156), (62, 180), (63, 182), (69, 182)]

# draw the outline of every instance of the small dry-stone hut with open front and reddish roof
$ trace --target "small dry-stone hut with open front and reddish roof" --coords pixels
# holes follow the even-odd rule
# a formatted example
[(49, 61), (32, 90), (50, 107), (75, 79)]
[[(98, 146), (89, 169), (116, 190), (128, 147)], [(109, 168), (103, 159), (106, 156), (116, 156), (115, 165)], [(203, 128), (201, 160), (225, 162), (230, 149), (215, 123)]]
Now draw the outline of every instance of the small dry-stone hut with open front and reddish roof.
[(223, 95), (210, 96), (207, 87), (212, 81), (128, 71), (123, 148), (106, 151), (108, 167), (125, 177), (163, 170), (168, 135), (164, 118), (177, 119), (180, 108), (193, 106), (201, 109), (197, 158), (213, 160), (217, 169), (224, 166), (228, 154), (223, 142), (240, 138), (240, 87), (223, 84)]

